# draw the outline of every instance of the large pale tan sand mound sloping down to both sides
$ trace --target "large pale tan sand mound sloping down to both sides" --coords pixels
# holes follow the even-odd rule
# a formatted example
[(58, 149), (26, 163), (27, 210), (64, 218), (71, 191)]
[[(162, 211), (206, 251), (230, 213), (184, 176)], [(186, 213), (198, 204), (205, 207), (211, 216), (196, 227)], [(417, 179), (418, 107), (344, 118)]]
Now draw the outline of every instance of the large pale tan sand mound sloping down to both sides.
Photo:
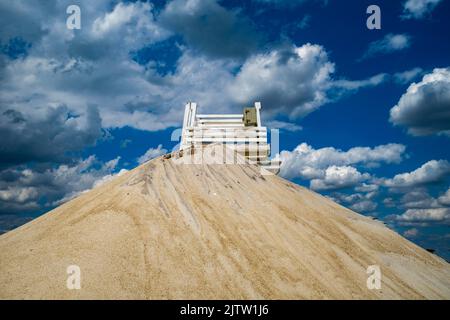
[(449, 299), (450, 265), (257, 167), (158, 158), (0, 236), (0, 298)]

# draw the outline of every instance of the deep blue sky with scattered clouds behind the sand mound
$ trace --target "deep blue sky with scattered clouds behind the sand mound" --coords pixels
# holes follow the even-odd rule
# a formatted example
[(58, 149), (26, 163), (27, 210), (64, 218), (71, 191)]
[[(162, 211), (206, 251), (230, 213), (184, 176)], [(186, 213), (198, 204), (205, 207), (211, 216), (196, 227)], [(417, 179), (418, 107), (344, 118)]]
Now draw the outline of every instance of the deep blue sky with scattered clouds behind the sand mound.
[(0, 229), (171, 150), (187, 101), (208, 113), (261, 101), (282, 176), (450, 259), (449, 12), (447, 0), (0, 0)]

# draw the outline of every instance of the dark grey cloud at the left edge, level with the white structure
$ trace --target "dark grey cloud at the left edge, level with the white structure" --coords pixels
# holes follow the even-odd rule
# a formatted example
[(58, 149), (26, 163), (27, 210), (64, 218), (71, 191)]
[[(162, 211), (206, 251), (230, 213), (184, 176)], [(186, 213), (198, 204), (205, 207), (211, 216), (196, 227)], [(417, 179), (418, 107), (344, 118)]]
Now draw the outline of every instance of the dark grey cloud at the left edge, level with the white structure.
[(0, 107), (0, 168), (34, 162), (64, 162), (101, 137), (98, 109), (73, 115), (66, 106), (45, 108), (32, 116)]

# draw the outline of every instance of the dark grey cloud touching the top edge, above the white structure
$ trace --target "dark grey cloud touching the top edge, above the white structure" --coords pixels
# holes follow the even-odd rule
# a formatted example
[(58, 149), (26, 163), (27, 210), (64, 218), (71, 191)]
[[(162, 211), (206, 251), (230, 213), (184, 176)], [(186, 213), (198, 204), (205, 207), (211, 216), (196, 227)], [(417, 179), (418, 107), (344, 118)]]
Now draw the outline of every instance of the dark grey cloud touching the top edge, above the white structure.
[(258, 45), (259, 36), (250, 22), (215, 0), (171, 1), (159, 20), (183, 35), (191, 47), (213, 58), (244, 58)]

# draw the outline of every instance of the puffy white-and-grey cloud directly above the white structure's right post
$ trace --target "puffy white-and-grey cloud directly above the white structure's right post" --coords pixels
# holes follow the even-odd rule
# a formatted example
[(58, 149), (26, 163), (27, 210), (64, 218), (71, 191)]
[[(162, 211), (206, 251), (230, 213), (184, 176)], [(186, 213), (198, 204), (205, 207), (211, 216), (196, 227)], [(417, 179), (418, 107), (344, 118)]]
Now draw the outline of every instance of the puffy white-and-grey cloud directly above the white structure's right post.
[(231, 85), (230, 94), (242, 105), (263, 101), (266, 113), (305, 116), (327, 100), (334, 64), (325, 49), (305, 44), (249, 58)]

